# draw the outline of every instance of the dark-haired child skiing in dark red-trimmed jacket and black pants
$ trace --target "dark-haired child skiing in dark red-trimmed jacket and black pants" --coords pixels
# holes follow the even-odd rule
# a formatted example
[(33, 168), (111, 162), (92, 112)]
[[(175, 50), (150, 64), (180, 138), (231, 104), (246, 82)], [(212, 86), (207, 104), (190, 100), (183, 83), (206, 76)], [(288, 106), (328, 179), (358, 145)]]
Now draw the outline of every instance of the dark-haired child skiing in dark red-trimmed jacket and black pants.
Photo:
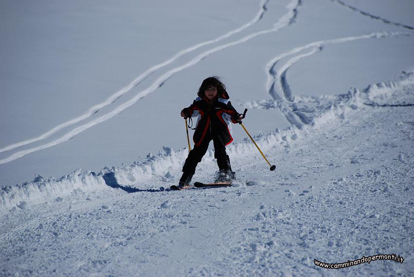
[(227, 182), (236, 178), (226, 154), (226, 145), (233, 141), (229, 121), (239, 123), (242, 115), (227, 100), (229, 97), (226, 86), (217, 77), (205, 79), (197, 95), (197, 99), (181, 111), (183, 118), (198, 116), (193, 136), (194, 148), (188, 153), (184, 163), (183, 176), (179, 182), (181, 187), (189, 185), (197, 164), (207, 152), (210, 140), (213, 140), (214, 158), (217, 159), (220, 170), (215, 182)]

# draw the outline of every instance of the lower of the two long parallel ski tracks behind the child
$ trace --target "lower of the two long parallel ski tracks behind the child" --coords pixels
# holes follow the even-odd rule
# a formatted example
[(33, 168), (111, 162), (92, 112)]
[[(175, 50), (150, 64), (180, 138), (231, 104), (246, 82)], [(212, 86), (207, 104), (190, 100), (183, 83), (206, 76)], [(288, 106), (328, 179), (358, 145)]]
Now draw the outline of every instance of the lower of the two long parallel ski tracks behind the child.
[(113, 118), (116, 115), (118, 115), (119, 113), (121, 113), (122, 111), (124, 111), (125, 109), (127, 109), (128, 107), (130, 107), (133, 104), (135, 104), (140, 99), (142, 99), (145, 96), (147, 96), (149, 93), (151, 93), (151, 92), (155, 91), (157, 88), (161, 87), (169, 78), (171, 78), (177, 72), (180, 72), (180, 71), (182, 71), (182, 70), (184, 70), (184, 69), (186, 69), (186, 68), (188, 68), (188, 67), (190, 67), (190, 66), (192, 66), (192, 65), (194, 65), (196, 63), (198, 63), (202, 59), (205, 59), (207, 56), (209, 56), (209, 55), (211, 55), (211, 54), (213, 54), (213, 53), (215, 53), (217, 51), (223, 50), (223, 49), (225, 49), (227, 47), (234, 46), (234, 45), (237, 45), (237, 44), (246, 42), (246, 41), (251, 40), (251, 39), (253, 39), (253, 38), (257, 37), (257, 36), (264, 35), (264, 34), (268, 34), (268, 33), (271, 33), (271, 32), (277, 32), (280, 29), (282, 29), (284, 27), (287, 27), (287, 26), (293, 24), (295, 22), (295, 20), (296, 20), (297, 15), (298, 15), (297, 8), (300, 5), (301, 5), (301, 0), (292, 0), (286, 6), (286, 8), (288, 9), (288, 12), (277, 23), (274, 24), (273, 28), (268, 29), (268, 30), (262, 30), (262, 31), (254, 32), (254, 33), (251, 33), (251, 34), (249, 34), (249, 35), (247, 35), (247, 36), (245, 36), (245, 37), (243, 37), (243, 38), (241, 38), (239, 40), (235, 40), (235, 41), (232, 41), (232, 42), (223, 44), (223, 45), (216, 46), (216, 47), (214, 47), (214, 48), (212, 48), (210, 50), (207, 50), (207, 51), (201, 53), (200, 55), (198, 55), (197, 57), (195, 57), (194, 59), (191, 59), (187, 63), (185, 63), (185, 64), (183, 64), (181, 66), (178, 66), (178, 67), (175, 67), (175, 68), (169, 70), (168, 72), (166, 72), (165, 74), (163, 74), (161, 77), (159, 77), (158, 79), (156, 79), (151, 84), (150, 87), (148, 87), (147, 89), (139, 92), (135, 97), (133, 97), (129, 101), (127, 101), (127, 102), (119, 105), (112, 112), (109, 112), (109, 113), (107, 113), (107, 114), (105, 114), (105, 115), (103, 115), (103, 116), (101, 116), (101, 117), (99, 117), (97, 119), (94, 119), (94, 120), (92, 120), (90, 122), (87, 122), (87, 123), (85, 123), (85, 124), (83, 124), (81, 126), (76, 127), (75, 129), (73, 129), (72, 131), (66, 133), (64, 136), (60, 137), (59, 139), (53, 140), (53, 141), (51, 141), (49, 143), (46, 143), (46, 144), (43, 144), (43, 145), (40, 145), (40, 146), (37, 146), (37, 147), (33, 147), (33, 148), (30, 148), (30, 149), (26, 149), (26, 150), (22, 150), (22, 151), (16, 152), (16, 153), (14, 153), (13, 155), (11, 155), (11, 156), (9, 156), (7, 158), (1, 159), (0, 160), (0, 164), (13, 161), (13, 160), (18, 159), (18, 158), (21, 158), (21, 157), (23, 157), (23, 156), (25, 156), (27, 154), (30, 154), (30, 153), (33, 153), (33, 152), (36, 152), (36, 151), (39, 151), (39, 150), (42, 150), (42, 149), (45, 149), (45, 148), (49, 148), (49, 147), (55, 146), (55, 145), (57, 145), (59, 143), (65, 142), (65, 141), (67, 141), (69, 139), (72, 139), (76, 135), (78, 135), (79, 133), (81, 133), (81, 132), (83, 132), (83, 131), (85, 131), (85, 130), (87, 130), (87, 129), (89, 129), (89, 128), (91, 128), (91, 127), (93, 127), (93, 126), (95, 126), (95, 125), (97, 125), (99, 123), (101, 123), (101, 122), (104, 122), (104, 121), (106, 121), (108, 119), (111, 119), (111, 118)]

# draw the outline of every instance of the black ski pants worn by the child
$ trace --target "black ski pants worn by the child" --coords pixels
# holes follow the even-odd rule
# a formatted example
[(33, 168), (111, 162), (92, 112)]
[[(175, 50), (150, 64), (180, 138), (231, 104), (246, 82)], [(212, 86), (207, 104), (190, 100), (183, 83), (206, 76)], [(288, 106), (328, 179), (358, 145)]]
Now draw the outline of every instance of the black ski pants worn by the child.
[(206, 154), (208, 144), (210, 144), (211, 140), (213, 140), (214, 158), (217, 159), (217, 165), (219, 166), (219, 169), (225, 171), (231, 170), (230, 158), (228, 158), (228, 155), (226, 153), (226, 145), (224, 145), (217, 138), (211, 138), (210, 134), (207, 133), (201, 144), (199, 146), (194, 145), (194, 148), (191, 149), (191, 151), (188, 153), (188, 157), (183, 166), (183, 172), (188, 174), (195, 173), (195, 168), (203, 156)]

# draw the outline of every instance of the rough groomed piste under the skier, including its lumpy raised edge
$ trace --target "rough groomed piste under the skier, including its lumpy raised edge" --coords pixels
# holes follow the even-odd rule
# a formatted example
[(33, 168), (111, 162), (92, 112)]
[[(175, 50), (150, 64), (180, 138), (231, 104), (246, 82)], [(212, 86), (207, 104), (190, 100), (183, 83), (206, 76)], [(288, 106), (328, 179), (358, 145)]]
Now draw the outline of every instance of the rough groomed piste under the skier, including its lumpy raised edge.
[[(256, 137), (274, 172), (251, 142), (234, 146), (233, 187), (166, 189), (183, 162), (169, 148), (96, 176), (38, 176), (9, 187), (2, 193), (0, 274), (413, 276), (413, 74), (295, 104), (313, 125)], [(206, 157), (195, 179), (211, 180), (216, 167)], [(157, 170), (169, 172), (155, 176)], [(12, 207), (12, 195), (27, 199)], [(314, 263), (388, 254), (403, 263)]]

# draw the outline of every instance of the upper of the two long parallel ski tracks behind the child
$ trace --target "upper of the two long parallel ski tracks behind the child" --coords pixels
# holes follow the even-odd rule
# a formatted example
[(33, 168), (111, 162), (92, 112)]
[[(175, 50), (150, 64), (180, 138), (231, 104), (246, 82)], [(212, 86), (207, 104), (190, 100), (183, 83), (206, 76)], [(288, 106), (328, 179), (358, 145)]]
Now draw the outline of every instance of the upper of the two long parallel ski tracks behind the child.
[(260, 3), (260, 10), (257, 13), (257, 15), (255, 16), (255, 18), (247, 23), (245, 23), (244, 25), (240, 26), (237, 29), (234, 29), (214, 40), (207, 40), (201, 43), (198, 43), (196, 45), (193, 45), (191, 47), (188, 47), (180, 52), (178, 52), (177, 54), (175, 54), (173, 57), (171, 57), (170, 59), (159, 63), (157, 65), (152, 66), (150, 69), (148, 69), (147, 71), (145, 71), (144, 73), (142, 73), (140, 76), (138, 76), (136, 79), (134, 79), (131, 83), (129, 83), (127, 86), (125, 86), (124, 88), (120, 89), (119, 91), (117, 91), (115, 94), (113, 94), (112, 96), (110, 96), (108, 99), (106, 99), (105, 101), (94, 105), (93, 107), (91, 107), (86, 113), (84, 113), (83, 115), (76, 117), (74, 119), (71, 119), (65, 123), (62, 123), (60, 125), (57, 125), (56, 127), (54, 127), (53, 129), (49, 130), (48, 132), (33, 138), (33, 139), (27, 139), (27, 140), (23, 140), (17, 143), (13, 143), (11, 145), (8, 145), (6, 147), (3, 147), (0, 149), (0, 152), (4, 152), (4, 151), (9, 151), (9, 150), (13, 150), (17, 147), (26, 145), (26, 144), (30, 144), (42, 139), (47, 139), (50, 136), (56, 134), (57, 132), (59, 132), (60, 130), (71, 126), (73, 124), (76, 124), (79, 121), (85, 120), (90, 118), (91, 116), (93, 116), (94, 114), (96, 114), (97, 112), (99, 112), (99, 110), (101, 110), (102, 108), (114, 103), (117, 99), (119, 99), (120, 97), (122, 97), (124, 94), (126, 94), (127, 92), (129, 92), (132, 88), (136, 87), (137, 85), (139, 85), (144, 79), (146, 79), (147, 77), (149, 77), (152, 73), (154, 73), (155, 71), (169, 65), (170, 63), (176, 61), (177, 59), (180, 59), (181, 57), (183, 57), (184, 55), (191, 53), (203, 46), (209, 45), (209, 44), (213, 44), (216, 43), (220, 40), (224, 40), (227, 39), (237, 33), (242, 32), (243, 30), (245, 30), (246, 28), (258, 23), (264, 16), (264, 13), (267, 10), (266, 4), (269, 2), (269, 0), (262, 0)]

